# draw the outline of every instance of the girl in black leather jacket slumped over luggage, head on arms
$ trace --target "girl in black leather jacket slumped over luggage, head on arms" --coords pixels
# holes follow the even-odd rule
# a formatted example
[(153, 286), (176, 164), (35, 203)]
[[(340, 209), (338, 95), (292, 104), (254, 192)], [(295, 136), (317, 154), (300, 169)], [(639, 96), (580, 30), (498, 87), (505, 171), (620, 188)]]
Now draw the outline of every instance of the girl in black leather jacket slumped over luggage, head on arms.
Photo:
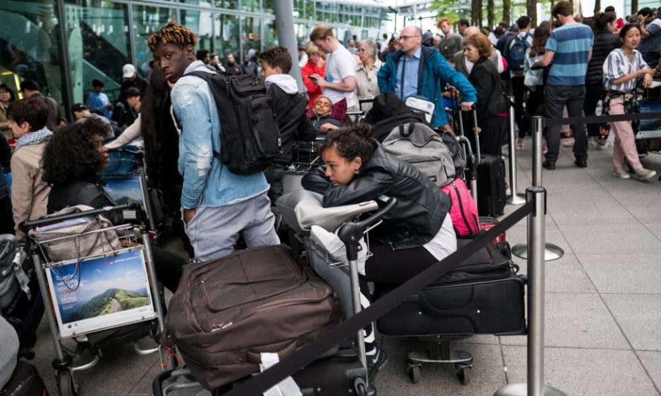
[[(361, 277), (361, 294), (368, 300), (366, 281), (403, 283), (457, 250), (448, 214), (450, 198), (415, 166), (386, 153), (371, 136), (369, 124), (329, 131), (320, 148), (324, 165), (302, 180), (306, 190), (324, 195), (324, 206), (378, 200), (381, 195), (397, 198), (397, 206), (371, 232), (373, 256)], [(384, 353), (377, 351), (371, 329), (366, 333), (368, 358), (378, 370)]]

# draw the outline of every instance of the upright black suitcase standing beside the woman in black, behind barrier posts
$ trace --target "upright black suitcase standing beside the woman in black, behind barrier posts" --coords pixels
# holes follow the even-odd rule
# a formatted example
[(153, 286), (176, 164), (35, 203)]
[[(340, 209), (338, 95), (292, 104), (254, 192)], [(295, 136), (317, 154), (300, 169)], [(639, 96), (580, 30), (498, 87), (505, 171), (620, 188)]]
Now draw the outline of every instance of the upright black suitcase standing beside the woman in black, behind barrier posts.
[(482, 155), (477, 167), (477, 212), (497, 217), (505, 211), (505, 160), (496, 155)]

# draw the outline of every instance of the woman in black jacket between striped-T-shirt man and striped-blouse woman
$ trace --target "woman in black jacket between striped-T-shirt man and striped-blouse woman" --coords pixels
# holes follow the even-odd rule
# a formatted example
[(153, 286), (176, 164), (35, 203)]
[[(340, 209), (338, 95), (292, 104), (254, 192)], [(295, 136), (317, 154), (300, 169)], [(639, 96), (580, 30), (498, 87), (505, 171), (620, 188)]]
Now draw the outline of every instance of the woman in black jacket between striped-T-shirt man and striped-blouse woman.
[[(602, 81), (603, 65), (608, 54), (619, 48), (620, 37), (614, 34), (618, 28), (616, 15), (612, 12), (600, 13), (594, 16), (594, 44), (592, 45), (592, 58), (587, 63), (585, 76), (585, 101), (583, 111), (585, 116), (596, 115), (597, 104), (604, 96), (604, 83)], [(601, 135), (600, 129), (607, 131), (605, 124), (587, 124), (587, 133), (592, 138), (588, 141), (590, 146), (606, 149), (613, 146), (607, 141), (608, 134)]]

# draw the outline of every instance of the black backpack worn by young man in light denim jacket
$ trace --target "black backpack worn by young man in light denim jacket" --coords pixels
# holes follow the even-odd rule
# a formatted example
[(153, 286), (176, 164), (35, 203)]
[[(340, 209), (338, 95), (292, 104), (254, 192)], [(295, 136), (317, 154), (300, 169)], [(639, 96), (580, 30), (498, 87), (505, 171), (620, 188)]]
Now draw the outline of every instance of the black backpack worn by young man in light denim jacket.
[(273, 100), (252, 74), (222, 76), (191, 72), (207, 81), (220, 118), (221, 153), (213, 156), (237, 175), (251, 175), (271, 165), (282, 154)]

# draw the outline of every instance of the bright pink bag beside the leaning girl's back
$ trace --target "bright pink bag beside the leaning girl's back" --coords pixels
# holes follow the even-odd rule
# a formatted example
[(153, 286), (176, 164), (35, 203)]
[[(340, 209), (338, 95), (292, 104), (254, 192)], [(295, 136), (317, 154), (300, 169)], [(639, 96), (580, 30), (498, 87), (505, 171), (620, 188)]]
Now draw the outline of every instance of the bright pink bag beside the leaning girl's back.
[(480, 230), (477, 205), (463, 180), (457, 177), (452, 183), (441, 187), (441, 190), (452, 199), (450, 218), (457, 236), (463, 238), (477, 234)]

